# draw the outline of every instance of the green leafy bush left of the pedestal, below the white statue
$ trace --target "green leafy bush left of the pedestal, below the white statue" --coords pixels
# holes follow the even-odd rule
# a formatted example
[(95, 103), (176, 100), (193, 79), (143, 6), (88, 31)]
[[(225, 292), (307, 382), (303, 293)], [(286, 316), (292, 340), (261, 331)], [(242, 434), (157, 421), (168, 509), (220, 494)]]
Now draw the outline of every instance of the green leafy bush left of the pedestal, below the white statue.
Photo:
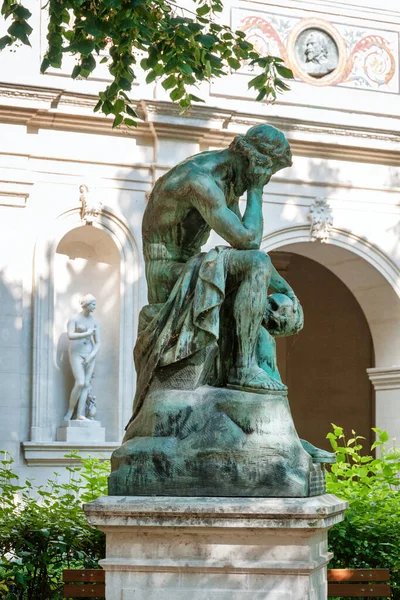
[[(79, 458), (77, 454), (68, 458)], [(80, 459), (46, 486), (19, 483), (13, 460), (0, 462), (0, 597), (4, 600), (62, 598), (62, 570), (97, 568), (105, 536), (88, 525), (82, 501), (106, 494), (109, 462)]]

